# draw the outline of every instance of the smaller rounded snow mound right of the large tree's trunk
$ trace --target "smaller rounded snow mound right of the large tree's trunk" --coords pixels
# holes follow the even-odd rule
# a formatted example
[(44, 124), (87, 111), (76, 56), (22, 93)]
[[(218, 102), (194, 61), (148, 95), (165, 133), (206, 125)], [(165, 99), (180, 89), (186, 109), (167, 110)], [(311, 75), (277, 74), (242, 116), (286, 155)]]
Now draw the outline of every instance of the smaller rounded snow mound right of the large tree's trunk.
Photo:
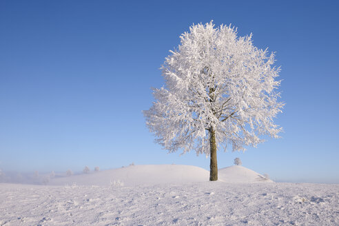
[(226, 183), (273, 182), (265, 176), (241, 165), (232, 165), (218, 170), (218, 180)]

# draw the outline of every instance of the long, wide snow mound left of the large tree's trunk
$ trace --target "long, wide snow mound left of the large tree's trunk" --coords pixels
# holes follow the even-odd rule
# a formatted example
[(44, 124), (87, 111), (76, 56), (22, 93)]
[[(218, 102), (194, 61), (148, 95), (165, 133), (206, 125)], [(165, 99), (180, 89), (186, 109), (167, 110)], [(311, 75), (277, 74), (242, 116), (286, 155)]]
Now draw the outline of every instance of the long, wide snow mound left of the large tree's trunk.
[(114, 170), (53, 178), (48, 185), (156, 185), (209, 180), (209, 172), (192, 165), (130, 165)]

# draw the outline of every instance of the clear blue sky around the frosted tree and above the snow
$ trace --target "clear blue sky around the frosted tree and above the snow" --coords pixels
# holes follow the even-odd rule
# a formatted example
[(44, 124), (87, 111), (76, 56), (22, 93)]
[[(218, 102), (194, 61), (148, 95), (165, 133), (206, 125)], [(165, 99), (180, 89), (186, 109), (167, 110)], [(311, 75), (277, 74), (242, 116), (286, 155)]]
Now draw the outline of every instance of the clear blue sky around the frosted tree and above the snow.
[(142, 110), (160, 68), (192, 23), (254, 34), (282, 71), (283, 138), (240, 157), (277, 181), (339, 183), (339, 5), (336, 1), (0, 1), (0, 168), (77, 171), (176, 163), (195, 152), (153, 143)]

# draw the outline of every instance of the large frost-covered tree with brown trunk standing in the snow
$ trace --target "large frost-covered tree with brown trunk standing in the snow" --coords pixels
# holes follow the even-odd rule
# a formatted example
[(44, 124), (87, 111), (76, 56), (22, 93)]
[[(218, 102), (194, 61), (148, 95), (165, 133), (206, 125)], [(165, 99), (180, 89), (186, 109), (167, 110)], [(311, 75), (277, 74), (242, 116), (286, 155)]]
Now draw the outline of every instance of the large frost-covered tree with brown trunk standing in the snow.
[(218, 148), (245, 151), (263, 142), (259, 135), (278, 138), (280, 68), (274, 53), (254, 47), (251, 35), (237, 37), (231, 25), (192, 25), (180, 38), (161, 67), (165, 87), (153, 89), (156, 101), (143, 113), (164, 149), (210, 155), (209, 180), (216, 181)]

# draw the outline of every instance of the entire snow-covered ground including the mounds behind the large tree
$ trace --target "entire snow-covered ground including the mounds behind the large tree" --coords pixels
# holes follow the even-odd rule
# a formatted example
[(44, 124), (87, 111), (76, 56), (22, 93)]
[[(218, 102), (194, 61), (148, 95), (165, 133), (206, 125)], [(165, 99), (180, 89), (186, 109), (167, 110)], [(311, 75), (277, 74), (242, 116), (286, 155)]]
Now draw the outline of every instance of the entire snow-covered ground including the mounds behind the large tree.
[(146, 165), (0, 183), (0, 225), (339, 225), (339, 185), (273, 183), (238, 166), (209, 182), (206, 172)]

